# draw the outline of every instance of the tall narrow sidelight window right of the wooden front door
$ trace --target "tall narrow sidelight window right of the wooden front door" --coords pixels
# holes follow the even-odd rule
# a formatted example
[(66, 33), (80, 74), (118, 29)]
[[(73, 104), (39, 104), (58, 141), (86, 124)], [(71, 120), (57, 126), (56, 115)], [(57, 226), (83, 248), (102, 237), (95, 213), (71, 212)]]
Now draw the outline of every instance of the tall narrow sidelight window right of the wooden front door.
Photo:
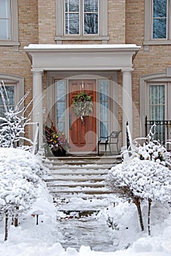
[(109, 131), (109, 80), (99, 80), (100, 136), (107, 137)]

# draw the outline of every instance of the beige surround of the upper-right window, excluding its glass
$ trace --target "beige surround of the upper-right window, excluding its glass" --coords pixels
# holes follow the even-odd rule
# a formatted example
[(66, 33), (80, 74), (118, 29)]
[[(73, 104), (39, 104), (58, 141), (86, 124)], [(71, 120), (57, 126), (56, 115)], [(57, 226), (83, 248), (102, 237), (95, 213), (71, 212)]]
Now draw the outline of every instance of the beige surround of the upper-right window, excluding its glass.
[[(145, 31), (143, 45), (171, 44), (171, 1), (167, 1), (167, 31), (166, 39), (153, 38), (153, 0), (145, 0)], [(147, 48), (148, 50), (148, 48)]]

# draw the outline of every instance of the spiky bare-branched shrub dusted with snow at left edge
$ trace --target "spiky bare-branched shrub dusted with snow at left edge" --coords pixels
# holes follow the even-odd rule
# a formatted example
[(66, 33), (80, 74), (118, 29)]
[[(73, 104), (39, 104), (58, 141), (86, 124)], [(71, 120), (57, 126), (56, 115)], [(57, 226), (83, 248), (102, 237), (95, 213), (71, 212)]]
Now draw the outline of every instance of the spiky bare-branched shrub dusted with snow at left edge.
[(4, 105), (3, 116), (0, 116), (0, 147), (13, 148), (20, 140), (28, 141), (31, 145), (31, 140), (24, 137), (25, 127), (29, 124), (31, 113), (25, 117), (26, 108), (23, 108), (23, 102), (28, 97), (29, 92), (20, 99), (20, 102), (15, 107), (10, 106), (9, 95), (3, 81), (0, 83), (0, 99)]

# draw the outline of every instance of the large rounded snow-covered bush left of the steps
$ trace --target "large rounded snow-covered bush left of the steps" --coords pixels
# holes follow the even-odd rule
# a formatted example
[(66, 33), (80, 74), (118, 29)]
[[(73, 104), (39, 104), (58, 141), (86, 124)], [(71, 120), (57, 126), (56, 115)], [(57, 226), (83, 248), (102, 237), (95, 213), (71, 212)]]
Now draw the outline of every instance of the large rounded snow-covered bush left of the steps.
[(29, 210), (37, 199), (42, 167), (34, 155), (18, 148), (0, 148), (0, 211), (5, 218), (5, 240), (8, 220)]

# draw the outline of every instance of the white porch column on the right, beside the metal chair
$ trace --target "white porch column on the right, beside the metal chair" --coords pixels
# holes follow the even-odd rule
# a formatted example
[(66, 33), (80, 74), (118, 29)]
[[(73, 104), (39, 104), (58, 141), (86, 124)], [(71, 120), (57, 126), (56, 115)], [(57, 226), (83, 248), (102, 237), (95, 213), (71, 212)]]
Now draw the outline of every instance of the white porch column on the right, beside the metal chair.
[(132, 135), (132, 70), (122, 69), (123, 72), (123, 94), (122, 94), (122, 109), (123, 109), (123, 146), (126, 146), (126, 121), (129, 122), (129, 129)]

